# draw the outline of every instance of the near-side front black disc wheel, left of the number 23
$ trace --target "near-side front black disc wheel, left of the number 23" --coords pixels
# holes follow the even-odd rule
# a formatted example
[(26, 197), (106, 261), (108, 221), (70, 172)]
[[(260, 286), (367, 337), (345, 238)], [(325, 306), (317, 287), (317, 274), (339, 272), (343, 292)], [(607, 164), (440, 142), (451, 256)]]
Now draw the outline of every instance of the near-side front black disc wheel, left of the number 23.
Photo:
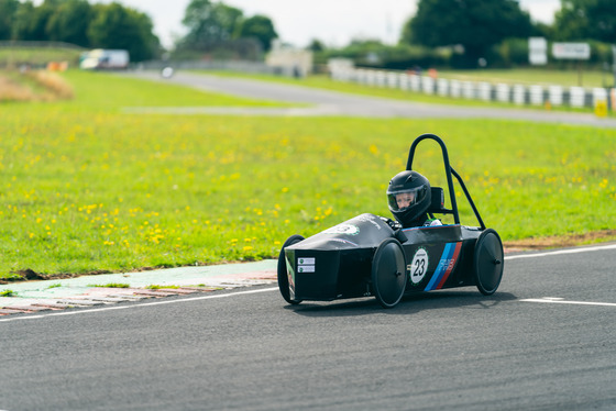
[(406, 290), (406, 258), (396, 238), (386, 238), (372, 259), (372, 293), (383, 308), (394, 308)]

